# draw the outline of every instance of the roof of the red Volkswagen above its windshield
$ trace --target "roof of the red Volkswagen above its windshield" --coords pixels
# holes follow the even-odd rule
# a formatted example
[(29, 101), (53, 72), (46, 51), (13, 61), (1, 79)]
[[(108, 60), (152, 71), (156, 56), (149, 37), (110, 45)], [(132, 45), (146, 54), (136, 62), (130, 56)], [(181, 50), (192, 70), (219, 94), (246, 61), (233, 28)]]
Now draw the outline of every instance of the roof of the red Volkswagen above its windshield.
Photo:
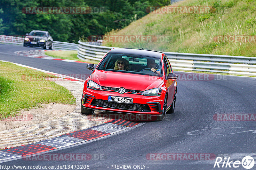
[(133, 49), (133, 48), (113, 48), (109, 53), (124, 53), (124, 54), (134, 54), (134, 55), (144, 55), (149, 57), (161, 58), (162, 52), (151, 51), (151, 50), (142, 50), (142, 49)]

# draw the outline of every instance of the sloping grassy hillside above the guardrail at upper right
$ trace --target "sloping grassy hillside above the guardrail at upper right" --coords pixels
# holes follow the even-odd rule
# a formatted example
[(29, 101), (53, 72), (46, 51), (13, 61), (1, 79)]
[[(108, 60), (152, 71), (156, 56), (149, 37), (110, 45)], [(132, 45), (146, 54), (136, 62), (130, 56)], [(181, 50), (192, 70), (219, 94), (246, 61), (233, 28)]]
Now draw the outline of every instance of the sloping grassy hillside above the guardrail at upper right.
[(256, 43), (216, 42), (218, 35), (256, 35), (255, 0), (184, 0), (172, 6), (212, 6), (210, 13), (150, 13), (107, 35), (169, 36), (168, 42), (113, 43), (105, 46), (180, 53), (256, 56)]

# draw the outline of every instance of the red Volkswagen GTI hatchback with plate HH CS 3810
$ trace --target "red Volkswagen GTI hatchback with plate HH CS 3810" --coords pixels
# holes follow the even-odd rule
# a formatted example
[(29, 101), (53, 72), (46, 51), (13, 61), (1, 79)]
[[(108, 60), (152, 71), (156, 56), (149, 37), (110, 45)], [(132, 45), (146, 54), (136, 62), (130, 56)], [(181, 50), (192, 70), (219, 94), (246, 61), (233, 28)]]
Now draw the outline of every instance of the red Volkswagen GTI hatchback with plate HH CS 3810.
[(164, 120), (174, 112), (178, 75), (164, 53), (113, 48), (95, 69), (86, 67), (93, 73), (84, 83), (83, 114), (104, 110), (132, 114), (134, 120)]

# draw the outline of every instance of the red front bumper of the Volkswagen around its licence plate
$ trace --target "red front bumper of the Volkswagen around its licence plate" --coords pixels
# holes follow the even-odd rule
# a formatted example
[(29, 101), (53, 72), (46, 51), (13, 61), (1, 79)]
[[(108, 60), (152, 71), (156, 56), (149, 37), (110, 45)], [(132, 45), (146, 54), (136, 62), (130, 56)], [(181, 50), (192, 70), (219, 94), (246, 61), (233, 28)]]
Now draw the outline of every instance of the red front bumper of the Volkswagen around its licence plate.
[[(130, 97), (133, 98), (133, 104), (108, 102), (108, 96)], [(83, 93), (82, 105), (84, 108), (88, 109), (114, 112), (115, 117), (124, 117), (126, 120), (127, 118), (130, 120), (134, 118), (139, 120), (160, 120), (159, 118), (162, 117), (164, 103), (162, 96), (163, 95), (143, 96), (128, 93), (119, 94), (113, 91), (86, 88)], [(126, 114), (129, 114), (129, 116), (125, 117)]]

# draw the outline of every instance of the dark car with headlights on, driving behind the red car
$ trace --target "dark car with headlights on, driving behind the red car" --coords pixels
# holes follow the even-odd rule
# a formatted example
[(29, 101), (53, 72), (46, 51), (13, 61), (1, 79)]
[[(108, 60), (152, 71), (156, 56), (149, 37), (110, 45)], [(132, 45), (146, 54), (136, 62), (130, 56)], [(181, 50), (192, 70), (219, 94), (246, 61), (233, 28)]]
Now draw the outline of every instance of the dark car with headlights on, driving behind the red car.
[(23, 46), (38, 46), (48, 50), (52, 49), (52, 42), (52, 36), (48, 31), (33, 30), (26, 34)]

